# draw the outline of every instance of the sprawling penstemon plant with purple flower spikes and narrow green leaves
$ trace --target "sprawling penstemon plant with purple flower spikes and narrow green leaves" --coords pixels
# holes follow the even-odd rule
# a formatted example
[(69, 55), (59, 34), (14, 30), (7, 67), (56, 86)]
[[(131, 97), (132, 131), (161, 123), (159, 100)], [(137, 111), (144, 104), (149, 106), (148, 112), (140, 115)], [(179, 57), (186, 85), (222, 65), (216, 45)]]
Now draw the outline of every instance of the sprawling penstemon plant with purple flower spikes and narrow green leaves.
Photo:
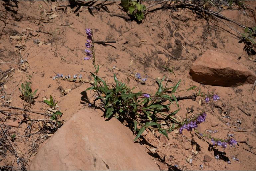
[[(167, 138), (167, 133), (173, 130), (179, 129), (179, 133), (182, 134), (184, 129), (190, 132), (192, 132), (194, 129), (196, 135), (200, 136), (201, 138), (209, 138), (212, 146), (218, 145), (226, 148), (227, 144), (233, 146), (237, 143), (230, 137), (228, 139), (218, 139), (207, 134), (199, 133), (196, 130), (196, 127), (198, 127), (198, 124), (206, 120), (207, 114), (205, 112), (187, 117), (184, 121), (180, 121), (174, 117), (174, 115), (181, 109), (179, 108), (178, 100), (175, 95), (181, 91), (195, 90), (196, 86), (177, 91), (181, 80), (179, 80), (176, 85), (167, 87), (167, 82), (165, 84), (163, 83), (165, 79), (164, 76), (161, 80), (156, 79), (158, 89), (155, 94), (148, 94), (142, 91), (134, 93), (133, 90), (135, 87), (129, 88), (125, 83), (119, 81), (115, 74), (115, 84), (112, 86), (107, 84), (101, 77), (98, 76), (100, 67), (99, 65), (96, 65), (95, 60), (93, 31), (91, 29), (86, 29), (86, 34), (87, 43), (85, 43), (85, 46), (87, 49), (85, 49), (85, 52), (87, 57), (84, 57), (84, 60), (92, 60), (92, 64), (95, 68), (94, 72), (90, 72), (93, 77), (93, 81), (87, 81), (93, 86), (87, 88), (86, 91), (94, 90), (98, 93), (98, 96), (96, 96), (97, 98), (94, 101), (101, 100), (102, 106), (105, 108), (104, 117), (106, 119), (116, 117), (121, 121), (125, 120), (128, 124), (134, 125), (134, 131), (137, 132), (137, 136), (134, 141), (136, 141), (146, 129), (158, 131)], [(170, 70), (169, 72), (171, 73), (173, 71)], [(73, 80), (76, 80), (77, 77), (75, 76)], [(57, 74), (55, 77), (68, 81), (72, 80), (70, 75), (67, 76), (67, 78), (64, 78), (63, 75)], [(82, 77), (79, 76), (78, 80), (81, 81), (81, 78)], [(135, 74), (135, 78), (138, 80), (141, 79), (143, 82), (146, 81), (146, 78), (141, 78), (140, 74), (138, 73)], [(213, 101), (220, 99), (220, 97), (216, 94), (210, 96), (203, 95), (200, 90), (198, 93), (196, 92), (196, 95), (205, 97), (205, 103), (208, 103), (210, 98), (212, 98)], [(176, 104), (177, 108), (175, 110), (171, 110), (170, 106), (174, 103)], [(168, 126), (161, 124), (163, 118)]]

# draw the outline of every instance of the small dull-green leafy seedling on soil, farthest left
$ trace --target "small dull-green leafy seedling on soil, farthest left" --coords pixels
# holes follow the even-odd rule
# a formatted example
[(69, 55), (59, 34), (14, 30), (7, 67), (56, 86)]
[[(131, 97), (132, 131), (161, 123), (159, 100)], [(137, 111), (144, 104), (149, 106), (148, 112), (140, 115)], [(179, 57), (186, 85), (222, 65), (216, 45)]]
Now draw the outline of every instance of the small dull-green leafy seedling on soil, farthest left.
[(32, 93), (32, 89), (31, 89), (31, 82), (24, 82), (21, 84), (21, 88), (19, 88), (19, 90), (22, 93), (22, 98), (24, 99), (25, 102), (31, 104), (34, 103), (34, 99), (35, 99), (35, 95), (37, 93), (36, 89), (33, 93)]

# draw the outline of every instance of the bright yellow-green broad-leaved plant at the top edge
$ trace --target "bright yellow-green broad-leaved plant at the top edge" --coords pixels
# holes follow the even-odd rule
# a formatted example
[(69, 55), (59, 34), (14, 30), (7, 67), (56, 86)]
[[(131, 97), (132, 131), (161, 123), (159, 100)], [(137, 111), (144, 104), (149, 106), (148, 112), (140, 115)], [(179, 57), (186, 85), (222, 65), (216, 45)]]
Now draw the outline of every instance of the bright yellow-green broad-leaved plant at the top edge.
[(121, 1), (121, 6), (124, 10), (130, 13), (131, 17), (135, 18), (138, 21), (144, 19), (144, 13), (146, 10), (145, 5), (141, 5), (137, 1)]

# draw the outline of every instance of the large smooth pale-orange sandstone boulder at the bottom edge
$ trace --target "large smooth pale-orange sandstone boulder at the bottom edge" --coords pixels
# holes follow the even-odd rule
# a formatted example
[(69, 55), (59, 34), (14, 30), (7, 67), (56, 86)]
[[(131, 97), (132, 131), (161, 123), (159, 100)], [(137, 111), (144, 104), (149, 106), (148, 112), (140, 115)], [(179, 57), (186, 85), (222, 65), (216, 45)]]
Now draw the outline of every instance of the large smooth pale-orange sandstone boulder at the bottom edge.
[(72, 116), (39, 149), (30, 170), (159, 170), (134, 136), (116, 118), (96, 110)]

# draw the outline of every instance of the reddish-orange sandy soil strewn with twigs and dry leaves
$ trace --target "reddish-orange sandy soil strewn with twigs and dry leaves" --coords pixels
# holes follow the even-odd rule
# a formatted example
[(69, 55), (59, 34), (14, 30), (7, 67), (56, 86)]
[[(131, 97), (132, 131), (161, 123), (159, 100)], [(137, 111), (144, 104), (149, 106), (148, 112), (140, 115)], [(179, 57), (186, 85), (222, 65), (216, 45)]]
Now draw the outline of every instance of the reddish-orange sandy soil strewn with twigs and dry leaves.
[[(220, 96), (219, 101), (211, 101), (208, 104), (204, 103), (201, 97), (197, 97), (195, 101), (181, 100), (179, 101), (181, 110), (176, 117), (184, 119), (191, 112), (198, 114), (204, 110), (208, 116), (206, 122), (200, 124), (198, 130), (205, 133), (207, 133), (206, 130), (217, 130), (217, 133), (212, 133), (212, 135), (223, 139), (230, 133), (234, 134), (238, 145), (228, 146), (226, 149), (217, 147), (216, 150), (211, 150), (207, 143), (210, 140), (202, 141), (194, 136), (194, 132), (190, 134), (184, 131), (184, 134), (180, 135), (177, 131), (173, 131), (168, 134), (169, 141), (163, 136), (158, 138), (158, 135), (156, 137), (151, 132), (147, 132), (146, 136), (140, 138), (140, 143), (161, 170), (200, 170), (202, 169), (200, 165), (203, 165), (204, 170), (255, 170), (256, 91), (251, 94), (253, 85), (234, 88), (208, 86), (194, 82), (189, 76), (193, 61), (208, 49), (227, 52), (236, 60), (241, 57), (239, 62), (255, 72), (256, 64), (253, 60), (256, 57), (248, 56), (243, 50), (244, 43), (238, 43), (239, 34), (230, 27), (238, 32), (243, 32), (244, 29), (233, 22), (197, 13), (194, 9), (164, 9), (161, 8), (163, 4), (151, 7), (150, 10), (153, 11), (149, 12), (143, 22), (138, 24), (136, 21), (126, 21), (121, 17), (111, 16), (111, 14), (126, 15), (119, 5), (120, 1), (108, 1), (104, 8), (95, 8), (95, 6), (99, 7), (97, 4), (100, 3), (89, 1), (71, 4), (68, 1), (0, 2), (0, 31), (2, 32), (0, 37), (0, 92), (1, 96), (4, 96), (0, 100), (2, 104), (0, 110), (11, 113), (0, 114), (1, 169), (28, 169), (38, 147), (54, 133), (47, 129), (54, 125), (49, 117), (4, 107), (4, 105), (11, 105), (23, 108), (21, 92), (18, 90), (21, 83), (31, 79), (32, 90), (38, 89), (38, 97), (29, 108), (31, 111), (46, 113), (49, 107), (43, 102), (43, 98), (48, 99), (50, 95), (59, 101), (58, 105), (63, 112), (60, 119), (62, 123), (80, 109), (88, 108), (88, 102), (93, 103), (96, 93), (85, 92), (90, 84), (52, 79), (57, 73), (71, 76), (80, 73), (83, 78), (91, 79), (89, 72), (94, 70), (93, 65), (91, 61), (83, 60), (85, 28), (91, 28), (94, 30), (95, 40), (116, 41), (116, 43), (106, 43), (106, 45), (95, 45), (96, 62), (100, 65), (99, 75), (108, 83), (114, 82), (113, 74), (116, 74), (118, 79), (127, 81), (129, 77), (127, 75), (141, 73), (143, 77), (147, 77), (145, 85), (134, 81), (131, 77), (129, 77), (128, 85), (135, 86), (134, 91), (143, 90), (147, 93), (154, 93), (157, 88), (155, 79), (168, 75), (168, 72), (164, 70), (164, 66), (168, 66), (174, 67), (176, 74), (176, 78), (170, 75), (171, 81), (168, 82), (168, 86), (175, 85), (179, 79), (182, 79), (180, 90), (195, 85), (206, 94), (215, 93)], [(146, 6), (154, 3), (156, 1), (143, 2)], [(246, 1), (245, 3), (252, 9), (256, 7), (255, 2)], [(93, 15), (88, 10), (89, 5), (91, 5), (89, 9)], [(214, 6), (210, 6), (210, 9), (219, 11)], [(255, 25), (252, 14), (235, 5), (231, 9), (223, 5), (219, 13), (241, 25)], [(18, 40), (15, 40), (17, 36)], [(27, 62), (22, 64), (21, 59)], [(14, 70), (10, 70), (11, 68)], [(65, 95), (63, 91), (67, 89), (72, 90)], [(180, 95), (188, 96), (193, 93), (190, 91)], [(245, 115), (237, 106), (250, 113), (251, 116)], [(175, 105), (171, 107), (176, 109)], [(229, 118), (223, 118), (224, 116), (229, 116)], [(31, 123), (28, 117), (35, 120)], [(9, 119), (19, 119), (21, 121), (19, 127), (4, 126), (2, 121)], [(241, 124), (237, 123), (237, 120), (240, 120)], [(212, 123), (218, 125), (213, 128)], [(46, 126), (41, 128), (40, 124)], [(15, 150), (4, 140), (3, 129)], [(11, 140), (9, 135), (14, 133), (16, 138)], [(16, 151), (19, 160), (8, 148)], [(214, 155), (222, 152), (226, 157), (216, 160)], [(205, 154), (211, 157), (210, 162), (204, 161)], [(239, 161), (232, 160), (232, 156)], [(192, 159), (191, 163), (190, 159)], [(228, 164), (227, 160), (230, 160), (231, 164)], [(24, 167), (20, 163), (17, 164), (19, 161)]]

